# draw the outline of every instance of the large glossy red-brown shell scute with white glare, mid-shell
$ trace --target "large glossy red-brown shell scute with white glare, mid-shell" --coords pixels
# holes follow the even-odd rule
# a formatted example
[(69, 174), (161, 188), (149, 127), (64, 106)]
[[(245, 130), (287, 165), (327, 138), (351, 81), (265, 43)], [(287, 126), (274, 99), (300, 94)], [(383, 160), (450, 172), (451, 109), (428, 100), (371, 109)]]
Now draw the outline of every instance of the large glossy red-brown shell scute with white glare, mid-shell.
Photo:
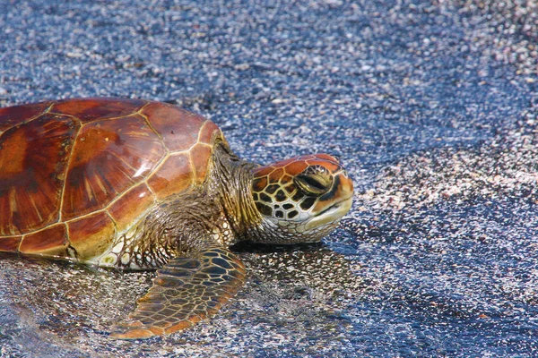
[(108, 206), (152, 172), (166, 150), (139, 115), (84, 125), (65, 182), (65, 220)]

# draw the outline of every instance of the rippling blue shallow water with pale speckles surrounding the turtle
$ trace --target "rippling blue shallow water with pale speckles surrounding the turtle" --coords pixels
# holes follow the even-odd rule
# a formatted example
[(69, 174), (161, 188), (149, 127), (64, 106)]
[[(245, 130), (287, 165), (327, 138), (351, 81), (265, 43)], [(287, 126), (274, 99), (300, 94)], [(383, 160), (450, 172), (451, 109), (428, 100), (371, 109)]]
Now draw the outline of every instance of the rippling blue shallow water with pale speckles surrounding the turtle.
[(1, 105), (166, 100), (357, 188), (321, 246), (236, 248), (247, 286), (169, 337), (108, 339), (152, 272), (3, 255), (0, 356), (537, 355), (534, 2), (372, 3), (0, 0)]

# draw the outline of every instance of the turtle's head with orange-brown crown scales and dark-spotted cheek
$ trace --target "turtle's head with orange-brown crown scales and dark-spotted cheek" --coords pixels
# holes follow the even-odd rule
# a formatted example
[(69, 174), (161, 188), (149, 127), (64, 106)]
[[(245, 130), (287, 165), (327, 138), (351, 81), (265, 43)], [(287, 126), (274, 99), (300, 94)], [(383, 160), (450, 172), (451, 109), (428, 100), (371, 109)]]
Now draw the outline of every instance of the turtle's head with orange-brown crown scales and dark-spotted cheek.
[(301, 156), (254, 169), (252, 192), (263, 217), (261, 243), (313, 243), (351, 208), (353, 183), (338, 159)]

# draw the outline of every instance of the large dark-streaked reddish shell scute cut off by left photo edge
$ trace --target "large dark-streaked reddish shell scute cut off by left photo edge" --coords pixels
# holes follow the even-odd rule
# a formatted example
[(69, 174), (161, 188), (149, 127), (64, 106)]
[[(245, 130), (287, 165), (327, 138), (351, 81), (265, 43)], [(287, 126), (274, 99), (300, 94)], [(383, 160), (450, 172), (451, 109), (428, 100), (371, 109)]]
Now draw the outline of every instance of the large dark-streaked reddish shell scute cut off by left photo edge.
[(65, 150), (75, 133), (68, 117), (44, 114), (0, 135), (0, 236), (28, 234), (58, 220)]

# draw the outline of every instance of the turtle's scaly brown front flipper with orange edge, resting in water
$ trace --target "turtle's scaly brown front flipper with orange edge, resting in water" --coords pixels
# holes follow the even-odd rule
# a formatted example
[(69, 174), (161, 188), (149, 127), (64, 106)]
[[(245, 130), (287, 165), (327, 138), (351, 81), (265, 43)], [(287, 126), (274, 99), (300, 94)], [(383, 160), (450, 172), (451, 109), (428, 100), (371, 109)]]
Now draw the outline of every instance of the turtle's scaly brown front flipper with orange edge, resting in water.
[(213, 316), (245, 283), (245, 267), (220, 245), (189, 251), (157, 271), (129, 321), (111, 335), (142, 339), (188, 328)]

